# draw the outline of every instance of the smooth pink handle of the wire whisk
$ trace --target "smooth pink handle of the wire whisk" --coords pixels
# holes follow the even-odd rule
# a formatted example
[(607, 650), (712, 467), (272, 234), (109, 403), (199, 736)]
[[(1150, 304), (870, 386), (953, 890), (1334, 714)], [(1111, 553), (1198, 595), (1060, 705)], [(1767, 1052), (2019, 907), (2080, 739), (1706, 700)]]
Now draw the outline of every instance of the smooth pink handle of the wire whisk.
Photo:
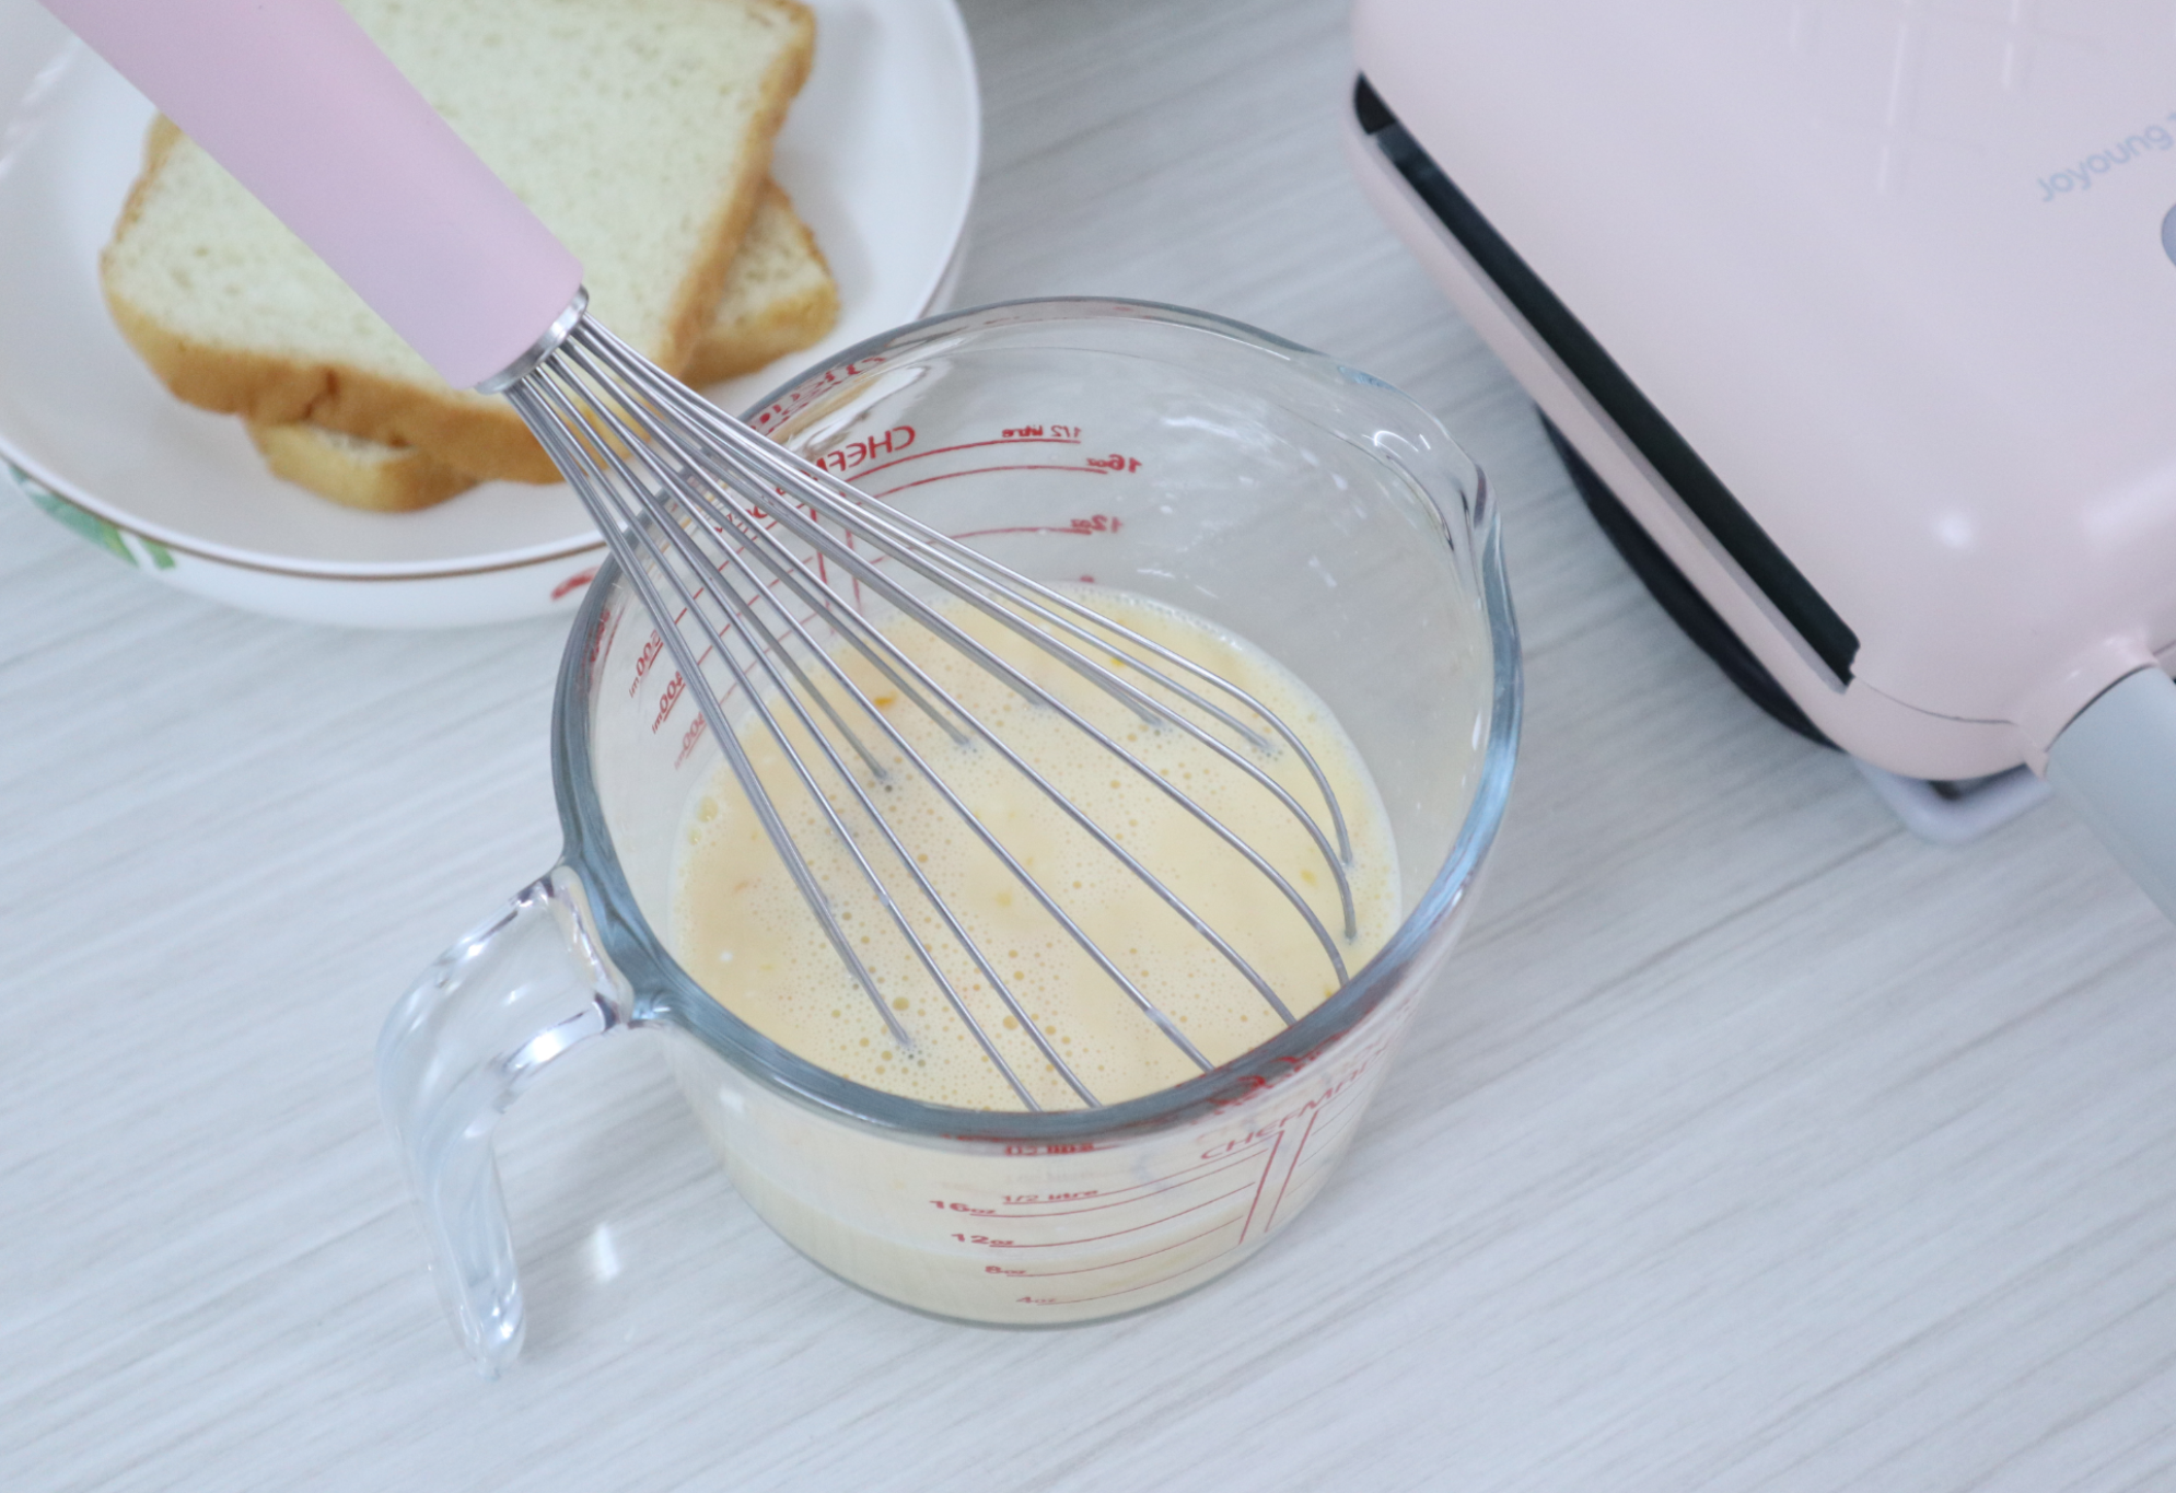
[(503, 372), (581, 263), (337, 0), (46, 0), (455, 387)]

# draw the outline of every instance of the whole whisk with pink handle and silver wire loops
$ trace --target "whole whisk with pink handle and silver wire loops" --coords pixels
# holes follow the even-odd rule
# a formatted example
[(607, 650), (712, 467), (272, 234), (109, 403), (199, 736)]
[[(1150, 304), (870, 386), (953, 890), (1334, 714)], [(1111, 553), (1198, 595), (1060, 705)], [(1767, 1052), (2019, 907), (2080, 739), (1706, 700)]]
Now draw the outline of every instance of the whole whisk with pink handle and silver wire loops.
[[(1223, 840), (1308, 925), (1334, 982), (1345, 982), (1345, 947), (1356, 938), (1351, 836), (1323, 766), (1284, 720), (1216, 673), (783, 451), (614, 337), (590, 318), (572, 255), (335, 0), (52, 0), (52, 9), (296, 229), (448, 383), (511, 400), (596, 520), (794, 886), (894, 1042), (912, 1047), (892, 992), (840, 925), (833, 888), (809, 868), (742, 731), (759, 729), (777, 742), (792, 786), (809, 794), (855, 875), (1025, 1108), (1042, 1106), (977, 1021), (938, 949), (916, 931), (894, 886), (912, 888), (934, 910), (944, 938), (1073, 1095), (1084, 1106), (1099, 1099), (888, 823), (877, 797), (901, 762), (936, 788), (1145, 1021), (1195, 1066), (1212, 1066), (923, 762), (842, 668), (840, 651), (864, 659), (955, 744), (1005, 757), (1214, 947), (1282, 1023), (1290, 1025), (1295, 1012), (1166, 879), (897, 646), (849, 596), (855, 588), (994, 673), (1031, 707), (1060, 712), (1142, 786)], [(849, 592), (829, 579), (833, 572)], [(1147, 727), (1190, 738), (1271, 794), (1306, 829), (1332, 877), (1336, 927), (1258, 849), (1125, 742), (968, 636), (938, 596), (984, 614)], [(722, 694), (740, 699), (738, 723)], [(807, 747), (796, 749), (788, 723)], [(1312, 779), (1319, 810), (1301, 805), (1253, 760), (1286, 751)], [(857, 810), (853, 823), (842, 803)]]

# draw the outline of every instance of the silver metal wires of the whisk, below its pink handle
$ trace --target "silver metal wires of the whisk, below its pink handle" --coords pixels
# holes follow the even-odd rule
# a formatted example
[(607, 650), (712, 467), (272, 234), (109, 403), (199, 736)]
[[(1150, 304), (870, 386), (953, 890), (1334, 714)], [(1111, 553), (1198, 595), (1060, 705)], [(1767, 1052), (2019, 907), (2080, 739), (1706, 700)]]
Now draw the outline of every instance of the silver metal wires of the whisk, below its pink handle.
[[(703, 725), (718, 742), (757, 823), (894, 1042), (912, 1051), (912, 1038), (899, 1023), (892, 1001), (842, 927), (831, 897), (794, 842), (740, 740), (735, 723), (727, 716), (725, 696), (733, 692), (744, 699), (746, 725), (762, 725), (792, 779), (816, 805), (823, 827), (836, 836), (855, 873), (877, 897), (886, 918), (907, 940), (920, 968), (944, 995), (953, 1014), (966, 1023), (981, 1053), (997, 1066), (1025, 1108), (1040, 1110), (1042, 1106), (990, 1032), (975, 1019), (936, 951), (914, 931), (907, 910), (870, 864), (866, 849), (875, 847), (864, 849), (864, 842), (849, 827), (846, 814), (840, 812), (840, 803), (833, 803), (833, 797), (823, 790), (812, 764), (796, 751), (788, 720), (812, 742), (814, 755), (829, 777), (844, 786), (844, 803), (857, 810), (860, 820), (866, 820), (868, 834), (888, 851), (886, 860), (905, 871), (918, 899), (936, 912), (951, 942), (968, 955), (981, 982), (1081, 1103), (1095, 1108), (1101, 1101), (1066, 1064), (1040, 1023), (1029, 1016), (1018, 992), (962, 925), (957, 912), (931, 884), (918, 857), (901, 842), (870, 794), (873, 786), (879, 790), (892, 786), (894, 768), (886, 766), (883, 755), (873, 751), (840, 714), (842, 705), (881, 733), (894, 762), (936, 790), (966, 829), (1005, 866), (1007, 875), (1164, 1038), (1201, 1071), (1212, 1066), (1177, 1023), (1127, 977), (997, 834), (968, 810), (944, 777), (916, 753), (886, 712), (846, 673), (838, 649), (827, 646), (820, 631), (829, 631), (838, 644), (860, 655), (955, 744), (986, 747), (999, 753), (1060, 814), (1208, 940), (1279, 1021), (1290, 1025), (1295, 1016), (1277, 990), (1223, 934), (997, 731), (962, 707), (881, 627), (873, 625), (855, 601), (836, 590), (825, 575), (829, 566), (990, 670), (1031, 707), (1060, 712), (1099, 749), (1132, 768), (1140, 781), (1186, 810), (1242, 855), (1293, 905), (1321, 945), (1336, 979), (1345, 982), (1347, 971), (1338, 938), (1260, 851), (1108, 731), (962, 631), (925, 596), (888, 575), (881, 562), (899, 562), (936, 590), (962, 599), (1125, 705), (1145, 725), (1177, 729), (1266, 790), (1303, 827), (1330, 868), (1340, 899), (1343, 936), (1349, 940), (1356, 934), (1356, 914), (1347, 875), (1351, 840), (1345, 816), (1321, 764), (1275, 712), (1192, 659), (1062, 592), (999, 566), (951, 535), (938, 533), (825, 468), (788, 453), (657, 370), (585, 313), (555, 331), (564, 331), (564, 340), (542, 353), (518, 381), (505, 387), (505, 394), (588, 505), (611, 555), (651, 614), (657, 636), (679, 670), (681, 686), (694, 696)], [(807, 614), (796, 616), (794, 603)], [(816, 625), (814, 631), (812, 625)], [(698, 642), (703, 644), (701, 653), (696, 651)], [(716, 659), (731, 681), (725, 692), (714, 690), (703, 670), (709, 659)], [(823, 681), (829, 683), (829, 690), (823, 688)], [(1229, 707), (1212, 694), (1229, 701)], [(1223, 725), (1256, 751), (1297, 753), (1327, 807), (1330, 834), (1282, 783), (1182, 712), (1179, 703)], [(829, 731), (818, 725), (818, 714), (829, 723)], [(1251, 725), (1247, 716), (1260, 727)], [(862, 773), (853, 770), (840, 744), (833, 742), (833, 733), (844, 751), (860, 760)], [(868, 783), (864, 783), (864, 775)]]

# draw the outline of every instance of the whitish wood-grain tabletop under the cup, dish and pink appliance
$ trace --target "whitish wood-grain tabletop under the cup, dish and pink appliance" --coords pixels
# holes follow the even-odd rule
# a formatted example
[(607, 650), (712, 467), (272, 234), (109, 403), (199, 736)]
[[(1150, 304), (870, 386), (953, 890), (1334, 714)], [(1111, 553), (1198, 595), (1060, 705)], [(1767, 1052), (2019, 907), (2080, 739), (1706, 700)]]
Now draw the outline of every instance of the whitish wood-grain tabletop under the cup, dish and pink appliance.
[(1179, 1304), (942, 1325), (605, 1045), (503, 1127), (533, 1330), (479, 1382), (370, 1051), (557, 849), (557, 627), (222, 612), (9, 503), (0, 1486), (2176, 1486), (2176, 934), (2058, 807), (1913, 840), (1669, 627), (1347, 181), (1334, 0), (968, 20), (962, 300), (1258, 322), (1504, 496), (1514, 807), (1343, 1175)]

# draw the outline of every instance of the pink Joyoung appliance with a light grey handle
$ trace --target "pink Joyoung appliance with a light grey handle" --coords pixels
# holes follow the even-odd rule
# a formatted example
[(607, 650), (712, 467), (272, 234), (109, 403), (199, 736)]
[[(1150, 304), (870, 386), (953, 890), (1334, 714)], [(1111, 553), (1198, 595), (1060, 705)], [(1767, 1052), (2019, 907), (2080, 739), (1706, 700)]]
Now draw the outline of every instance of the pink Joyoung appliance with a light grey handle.
[(1353, 41), (1369, 196), (1710, 653), (1889, 773), (2048, 775), (2176, 916), (2167, 7), (1358, 0)]

